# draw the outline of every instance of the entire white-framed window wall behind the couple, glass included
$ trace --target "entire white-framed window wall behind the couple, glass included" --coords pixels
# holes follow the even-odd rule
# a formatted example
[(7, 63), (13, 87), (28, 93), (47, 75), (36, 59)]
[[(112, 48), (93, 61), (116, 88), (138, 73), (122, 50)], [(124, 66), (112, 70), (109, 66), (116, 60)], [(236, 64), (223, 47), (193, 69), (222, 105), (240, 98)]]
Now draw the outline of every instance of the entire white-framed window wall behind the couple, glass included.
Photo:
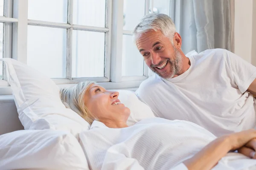
[[(0, 58), (12, 57), (61, 87), (92, 80), (136, 88), (148, 77), (132, 30), (174, 0), (0, 0)], [(0, 63), (0, 88), (8, 86)]]

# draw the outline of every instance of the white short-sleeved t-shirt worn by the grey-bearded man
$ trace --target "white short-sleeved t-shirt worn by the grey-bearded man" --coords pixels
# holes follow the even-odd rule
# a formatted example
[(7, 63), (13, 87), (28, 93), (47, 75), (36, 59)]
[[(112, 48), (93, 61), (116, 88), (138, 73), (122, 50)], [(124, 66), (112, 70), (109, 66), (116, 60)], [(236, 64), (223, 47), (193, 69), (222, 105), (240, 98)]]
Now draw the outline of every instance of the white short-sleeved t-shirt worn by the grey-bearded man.
[(256, 67), (224, 49), (189, 57), (180, 76), (146, 79), (136, 91), (158, 117), (194, 122), (216, 136), (255, 127), (256, 105), (247, 92)]

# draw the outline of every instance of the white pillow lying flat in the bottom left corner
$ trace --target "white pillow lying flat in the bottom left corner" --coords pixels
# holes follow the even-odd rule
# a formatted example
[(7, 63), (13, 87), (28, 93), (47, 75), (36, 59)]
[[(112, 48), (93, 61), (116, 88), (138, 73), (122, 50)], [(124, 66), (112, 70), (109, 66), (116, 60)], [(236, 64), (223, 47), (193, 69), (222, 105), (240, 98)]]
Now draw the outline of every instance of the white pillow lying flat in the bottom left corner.
[(18, 130), (0, 136), (0, 170), (89, 170), (78, 140), (59, 130)]

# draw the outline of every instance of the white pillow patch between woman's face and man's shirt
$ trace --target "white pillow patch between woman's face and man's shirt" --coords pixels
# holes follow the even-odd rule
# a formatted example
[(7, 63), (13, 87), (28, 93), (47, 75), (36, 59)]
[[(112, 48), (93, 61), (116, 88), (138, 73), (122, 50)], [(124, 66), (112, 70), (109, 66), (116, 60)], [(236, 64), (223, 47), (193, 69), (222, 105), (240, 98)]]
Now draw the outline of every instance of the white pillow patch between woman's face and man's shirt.
[(134, 125), (142, 119), (155, 117), (151, 108), (141, 102), (134, 91), (119, 90), (118, 92), (120, 102), (131, 110), (131, 114), (127, 120), (128, 126)]

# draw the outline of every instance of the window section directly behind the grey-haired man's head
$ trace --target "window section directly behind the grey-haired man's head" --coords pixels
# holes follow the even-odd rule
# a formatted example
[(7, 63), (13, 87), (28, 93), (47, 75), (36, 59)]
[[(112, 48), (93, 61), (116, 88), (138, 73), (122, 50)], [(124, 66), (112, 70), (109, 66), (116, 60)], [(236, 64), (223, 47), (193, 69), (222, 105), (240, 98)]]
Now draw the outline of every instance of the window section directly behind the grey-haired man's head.
[(134, 27), (148, 13), (171, 16), (171, 0), (124, 0), (122, 76), (146, 76), (147, 67), (131, 36)]

